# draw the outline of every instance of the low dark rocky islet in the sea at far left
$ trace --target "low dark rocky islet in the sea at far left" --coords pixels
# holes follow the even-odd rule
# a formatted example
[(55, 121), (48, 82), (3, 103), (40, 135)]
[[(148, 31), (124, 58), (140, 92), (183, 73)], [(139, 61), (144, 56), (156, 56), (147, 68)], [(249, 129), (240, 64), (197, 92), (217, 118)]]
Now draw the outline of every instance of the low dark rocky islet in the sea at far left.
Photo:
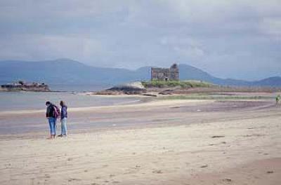
[(18, 81), (16, 83), (7, 83), (1, 85), (1, 91), (25, 90), (25, 91), (50, 91), (48, 85), (44, 83), (26, 83), (25, 81)]

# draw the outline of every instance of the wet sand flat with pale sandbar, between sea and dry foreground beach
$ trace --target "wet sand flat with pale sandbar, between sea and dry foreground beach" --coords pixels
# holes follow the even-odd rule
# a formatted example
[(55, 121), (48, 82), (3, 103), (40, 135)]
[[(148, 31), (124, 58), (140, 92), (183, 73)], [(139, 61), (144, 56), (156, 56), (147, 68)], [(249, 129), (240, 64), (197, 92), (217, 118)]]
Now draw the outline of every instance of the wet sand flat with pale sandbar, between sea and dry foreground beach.
[[(268, 100), (151, 100), (134, 104), (69, 108), (68, 122), (70, 129), (75, 132), (100, 128), (131, 128), (137, 125), (141, 128), (251, 118), (256, 114), (274, 116), (278, 109), (279, 106)], [(265, 114), (266, 110), (271, 111)], [(0, 111), (0, 135), (48, 130), (45, 111)], [(247, 116), (242, 116), (246, 112)], [(174, 123), (170, 124), (171, 121)], [(13, 129), (10, 125), (16, 128)]]

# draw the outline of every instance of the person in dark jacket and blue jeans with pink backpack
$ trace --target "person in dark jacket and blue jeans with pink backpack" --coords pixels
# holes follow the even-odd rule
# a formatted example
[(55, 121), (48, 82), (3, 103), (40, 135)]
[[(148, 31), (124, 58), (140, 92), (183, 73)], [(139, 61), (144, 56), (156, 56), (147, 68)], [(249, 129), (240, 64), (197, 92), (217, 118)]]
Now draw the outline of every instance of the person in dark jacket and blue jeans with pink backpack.
[(48, 125), (50, 126), (50, 138), (55, 139), (55, 123), (57, 121), (58, 116), (60, 116), (60, 109), (52, 104), (51, 102), (46, 102), (46, 118), (48, 119)]

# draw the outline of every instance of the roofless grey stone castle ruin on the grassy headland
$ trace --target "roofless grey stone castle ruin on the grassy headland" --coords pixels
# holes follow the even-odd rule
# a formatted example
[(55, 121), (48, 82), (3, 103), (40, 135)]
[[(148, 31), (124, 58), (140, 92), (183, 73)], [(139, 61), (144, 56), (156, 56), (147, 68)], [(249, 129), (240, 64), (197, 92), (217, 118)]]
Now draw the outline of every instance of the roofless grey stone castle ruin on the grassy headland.
[(173, 64), (170, 68), (151, 68), (151, 80), (178, 81), (178, 64)]

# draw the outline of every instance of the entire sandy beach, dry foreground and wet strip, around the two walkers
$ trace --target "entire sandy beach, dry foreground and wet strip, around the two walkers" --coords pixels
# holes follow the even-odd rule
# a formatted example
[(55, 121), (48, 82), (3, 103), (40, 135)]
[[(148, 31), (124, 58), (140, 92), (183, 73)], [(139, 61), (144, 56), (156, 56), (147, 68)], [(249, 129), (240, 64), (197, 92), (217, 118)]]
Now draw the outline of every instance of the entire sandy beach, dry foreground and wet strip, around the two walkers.
[(70, 108), (70, 135), (55, 140), (43, 110), (2, 111), (1, 130), (25, 131), (0, 135), (0, 184), (281, 184), (280, 109), (273, 100)]

